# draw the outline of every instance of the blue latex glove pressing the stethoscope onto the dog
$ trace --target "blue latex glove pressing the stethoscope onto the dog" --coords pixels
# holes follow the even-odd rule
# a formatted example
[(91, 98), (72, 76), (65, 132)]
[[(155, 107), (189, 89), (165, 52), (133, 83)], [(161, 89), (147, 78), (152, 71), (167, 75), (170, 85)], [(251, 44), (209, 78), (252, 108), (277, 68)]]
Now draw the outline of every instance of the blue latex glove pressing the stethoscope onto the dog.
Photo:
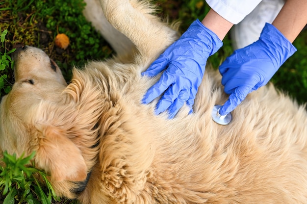
[(296, 48), (273, 25), (266, 24), (255, 43), (236, 50), (219, 67), (229, 99), (219, 110), (230, 113), (252, 91), (264, 86)]

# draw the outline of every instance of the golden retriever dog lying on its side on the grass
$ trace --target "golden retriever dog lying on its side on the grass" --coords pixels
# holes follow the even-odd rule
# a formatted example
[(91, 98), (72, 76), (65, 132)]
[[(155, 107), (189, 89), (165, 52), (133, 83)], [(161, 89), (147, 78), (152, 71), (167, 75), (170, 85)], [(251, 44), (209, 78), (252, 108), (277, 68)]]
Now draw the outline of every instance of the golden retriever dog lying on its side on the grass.
[[(1, 153), (35, 151), (56, 194), (82, 204), (307, 203), (304, 106), (269, 85), (221, 126), (211, 111), (228, 96), (207, 68), (192, 114), (184, 106), (172, 120), (154, 115), (156, 101), (141, 99), (159, 76), (141, 73), (177, 32), (148, 1), (88, 2), (85, 15), (117, 56), (74, 69), (67, 85), (43, 51), (16, 51), (16, 82), (0, 104)], [(109, 34), (95, 19), (102, 12), (116, 28)]]

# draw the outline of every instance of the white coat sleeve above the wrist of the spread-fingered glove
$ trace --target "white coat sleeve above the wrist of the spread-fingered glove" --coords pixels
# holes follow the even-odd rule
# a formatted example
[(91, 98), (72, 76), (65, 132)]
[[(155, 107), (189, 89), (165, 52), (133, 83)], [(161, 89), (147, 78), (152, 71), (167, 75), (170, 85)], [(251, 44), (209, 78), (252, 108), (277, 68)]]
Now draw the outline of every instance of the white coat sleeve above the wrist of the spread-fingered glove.
[(220, 16), (232, 24), (238, 24), (252, 12), (261, 0), (206, 0)]

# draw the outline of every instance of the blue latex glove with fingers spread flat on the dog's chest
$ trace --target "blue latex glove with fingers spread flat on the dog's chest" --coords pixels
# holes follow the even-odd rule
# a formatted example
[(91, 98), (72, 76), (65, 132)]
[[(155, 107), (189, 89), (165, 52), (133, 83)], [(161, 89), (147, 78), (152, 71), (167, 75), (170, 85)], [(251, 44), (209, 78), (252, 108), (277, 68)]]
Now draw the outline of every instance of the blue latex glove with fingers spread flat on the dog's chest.
[(145, 94), (142, 102), (152, 102), (161, 94), (155, 114), (169, 111), (173, 118), (186, 102), (191, 107), (204, 77), (207, 58), (222, 47), (222, 41), (199, 20), (167, 48), (142, 76), (154, 77), (164, 71), (160, 80)]

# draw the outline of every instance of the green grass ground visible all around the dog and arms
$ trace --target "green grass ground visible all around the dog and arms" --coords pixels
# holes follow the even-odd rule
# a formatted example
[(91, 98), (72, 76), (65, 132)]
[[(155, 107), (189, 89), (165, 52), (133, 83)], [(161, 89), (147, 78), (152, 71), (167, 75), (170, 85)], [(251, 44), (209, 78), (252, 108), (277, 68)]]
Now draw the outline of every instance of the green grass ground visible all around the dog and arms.
[[(204, 0), (154, 0), (153, 2), (160, 8), (161, 13), (158, 15), (162, 18), (168, 18), (170, 22), (181, 22), (180, 32), (184, 32), (195, 19), (202, 20), (209, 10)], [(71, 78), (71, 68), (74, 65), (82, 66), (88, 59), (104, 59), (112, 54), (110, 46), (90, 23), (86, 22), (82, 15), (83, 8), (82, 0), (0, 1), (0, 97), (7, 94), (14, 83), (9, 54), (16, 47), (30, 45), (43, 49), (61, 67), (67, 81)], [(54, 38), (58, 33), (65, 33), (70, 38), (71, 44), (66, 50), (56, 48), (54, 45)], [(224, 46), (208, 59), (208, 63), (215, 68), (233, 51), (229, 35), (223, 43)], [(282, 65), (271, 81), (298, 102), (304, 103), (307, 102), (307, 31), (300, 34), (294, 45), (298, 51)], [(42, 199), (47, 203), (75, 203), (75, 201), (51, 199), (52, 190), (48, 185), (47, 188), (41, 187), (44, 189), (44, 196), (37, 187), (39, 184), (32, 177), (32, 173), (37, 172), (30, 167), (24, 169), (21, 164), (24, 164), (25, 160), (22, 158), (9, 155), (7, 157), (13, 159), (10, 165), (13, 172), (17, 172), (18, 179), (16, 183), (16, 179), (9, 177), (8, 180), (15, 183), (3, 184), (3, 180), (7, 180), (7, 175), (10, 173), (7, 169), (0, 170), (1, 195), (4, 193), (2, 197), (0, 196), (0, 203), (4, 197), (10, 201), (14, 198), (15, 202), (18, 199), (21, 203), (31, 203), (26, 199), (32, 199), (33, 203), (42, 202)], [(23, 162), (17, 165), (17, 161)], [(31, 172), (32, 170), (34, 172)], [(20, 174), (21, 172), (23, 174)]]

